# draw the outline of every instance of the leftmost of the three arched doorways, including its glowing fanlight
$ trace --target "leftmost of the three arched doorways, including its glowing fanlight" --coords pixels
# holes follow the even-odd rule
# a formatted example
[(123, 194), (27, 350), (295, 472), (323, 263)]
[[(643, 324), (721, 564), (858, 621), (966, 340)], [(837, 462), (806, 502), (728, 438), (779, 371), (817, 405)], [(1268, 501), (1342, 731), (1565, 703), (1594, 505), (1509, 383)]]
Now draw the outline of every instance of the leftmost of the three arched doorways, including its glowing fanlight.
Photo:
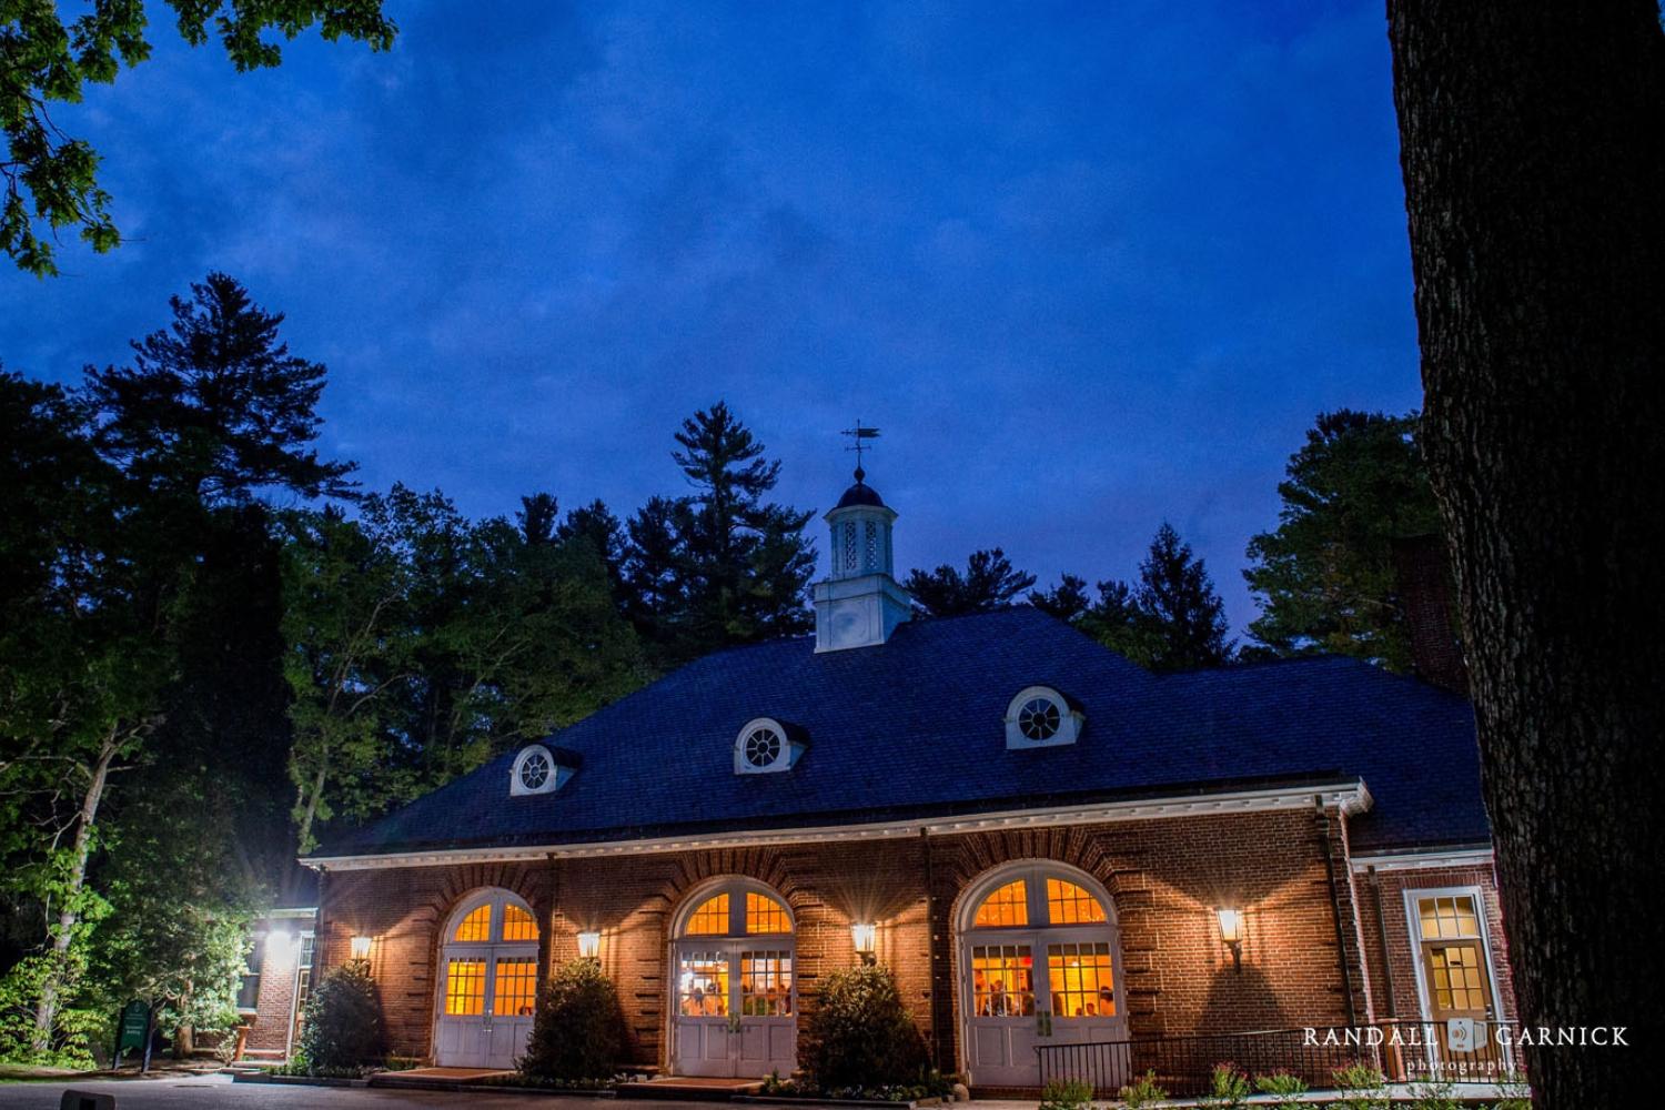
[(511, 1068), (538, 999), (538, 919), (508, 890), (480, 890), (445, 925), (435, 1063)]

